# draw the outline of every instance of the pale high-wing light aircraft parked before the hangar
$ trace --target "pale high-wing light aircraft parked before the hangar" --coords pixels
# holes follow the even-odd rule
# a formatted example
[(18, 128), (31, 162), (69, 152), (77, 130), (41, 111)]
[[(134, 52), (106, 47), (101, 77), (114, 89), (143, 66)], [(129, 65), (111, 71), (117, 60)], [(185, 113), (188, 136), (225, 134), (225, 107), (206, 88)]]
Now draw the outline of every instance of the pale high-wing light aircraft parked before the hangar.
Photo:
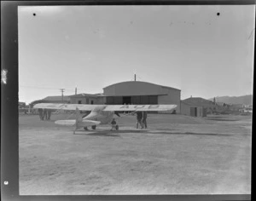
[[(75, 125), (76, 129), (87, 129), (91, 126), (96, 129), (98, 124), (108, 124), (113, 120), (113, 115), (119, 116), (118, 112), (138, 112), (138, 111), (170, 111), (172, 112), (177, 105), (86, 105), (86, 104), (57, 104), (57, 103), (38, 103), (33, 108), (75, 111), (76, 119), (57, 120), (55, 123), (61, 125)], [(90, 111), (90, 114), (82, 118), (80, 111)], [(119, 125), (116, 125), (119, 129)]]

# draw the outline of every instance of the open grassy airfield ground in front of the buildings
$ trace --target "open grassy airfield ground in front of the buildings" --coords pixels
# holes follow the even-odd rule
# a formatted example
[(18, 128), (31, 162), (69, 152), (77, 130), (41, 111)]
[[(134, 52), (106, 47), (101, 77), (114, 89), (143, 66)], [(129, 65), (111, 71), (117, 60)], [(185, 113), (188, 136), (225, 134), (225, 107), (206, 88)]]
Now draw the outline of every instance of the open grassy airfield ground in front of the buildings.
[(236, 194), (251, 192), (252, 119), (148, 114), (80, 131), (19, 118), (20, 195)]

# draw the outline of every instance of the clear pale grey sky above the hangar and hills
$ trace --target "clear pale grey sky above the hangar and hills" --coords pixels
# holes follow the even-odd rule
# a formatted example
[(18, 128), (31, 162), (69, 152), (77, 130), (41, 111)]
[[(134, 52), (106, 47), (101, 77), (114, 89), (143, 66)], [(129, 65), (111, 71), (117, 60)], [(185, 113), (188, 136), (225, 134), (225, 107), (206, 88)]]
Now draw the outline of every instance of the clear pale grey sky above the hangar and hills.
[[(182, 99), (253, 93), (254, 5), (19, 7), (19, 97), (134, 79)], [(217, 14), (219, 13), (219, 15)], [(35, 16), (33, 14), (36, 14)]]

